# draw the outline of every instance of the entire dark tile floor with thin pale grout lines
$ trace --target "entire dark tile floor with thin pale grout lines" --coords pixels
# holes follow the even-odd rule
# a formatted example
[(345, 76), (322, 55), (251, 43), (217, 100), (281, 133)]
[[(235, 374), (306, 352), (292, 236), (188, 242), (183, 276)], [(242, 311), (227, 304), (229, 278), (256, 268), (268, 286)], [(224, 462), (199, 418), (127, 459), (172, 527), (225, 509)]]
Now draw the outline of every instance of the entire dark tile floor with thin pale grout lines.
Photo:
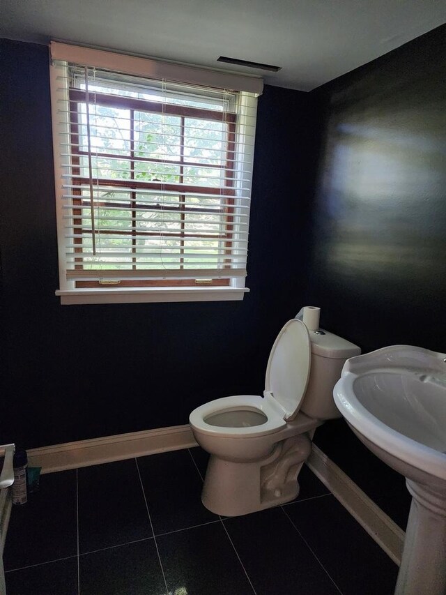
[(391, 595), (398, 568), (307, 467), (289, 504), (220, 518), (201, 449), (44, 475), (14, 507), (8, 595)]

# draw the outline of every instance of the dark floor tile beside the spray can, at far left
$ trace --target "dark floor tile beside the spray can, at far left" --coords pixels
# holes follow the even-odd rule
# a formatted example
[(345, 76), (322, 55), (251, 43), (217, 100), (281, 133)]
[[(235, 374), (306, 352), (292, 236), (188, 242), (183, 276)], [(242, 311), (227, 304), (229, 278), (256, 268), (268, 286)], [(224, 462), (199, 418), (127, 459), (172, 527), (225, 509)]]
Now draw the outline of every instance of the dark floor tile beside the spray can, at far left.
[(45, 474), (28, 502), (13, 506), (3, 561), (6, 570), (77, 554), (76, 472)]

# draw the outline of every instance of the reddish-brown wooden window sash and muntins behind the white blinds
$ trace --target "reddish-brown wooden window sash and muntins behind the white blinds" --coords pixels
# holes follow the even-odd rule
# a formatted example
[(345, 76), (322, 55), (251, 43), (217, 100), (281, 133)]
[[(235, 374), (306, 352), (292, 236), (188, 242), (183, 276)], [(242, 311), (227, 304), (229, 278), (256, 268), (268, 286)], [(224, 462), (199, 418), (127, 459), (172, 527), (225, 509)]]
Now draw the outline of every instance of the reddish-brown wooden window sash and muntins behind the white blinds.
[[(79, 199), (73, 199), (74, 205), (82, 205), (84, 200), (82, 199), (82, 189), (81, 186), (87, 186), (90, 184), (91, 180), (81, 176), (81, 167), (80, 167), (80, 158), (82, 156), (88, 155), (86, 151), (82, 151), (79, 149), (79, 111), (78, 106), (79, 103), (86, 103), (86, 91), (82, 91), (80, 89), (72, 89), (69, 90), (69, 105), (70, 105), (70, 140), (71, 140), (71, 153), (72, 153), (72, 183), (74, 186), (79, 186), (79, 190), (77, 188), (73, 189), (73, 195), (78, 195)], [(235, 155), (236, 155), (236, 114), (226, 113), (224, 112), (224, 120), (222, 119), (223, 112), (217, 112), (215, 110), (204, 110), (202, 108), (197, 107), (190, 107), (185, 105), (173, 105), (169, 103), (160, 104), (155, 101), (139, 99), (139, 98), (128, 98), (116, 95), (109, 95), (107, 93), (98, 93), (97, 91), (89, 92), (89, 103), (91, 105), (104, 105), (108, 107), (117, 107), (118, 109), (128, 109), (130, 110), (130, 155), (128, 156), (120, 156), (116, 155), (113, 156), (109, 153), (104, 153), (103, 156), (106, 158), (119, 158), (124, 160), (130, 161), (130, 179), (128, 180), (116, 180), (116, 179), (93, 179), (93, 185), (95, 186), (110, 186), (112, 188), (122, 188), (123, 190), (130, 190), (130, 204), (126, 204), (125, 209), (129, 209), (132, 211), (132, 220), (136, 220), (136, 211), (132, 209), (132, 206), (136, 204), (137, 200), (137, 190), (158, 190), (160, 193), (162, 192), (174, 192), (178, 193), (178, 206), (164, 206), (163, 210), (183, 210), (194, 212), (193, 207), (187, 208), (185, 197), (187, 194), (198, 193), (198, 194), (206, 194), (206, 195), (215, 195), (215, 196), (223, 196), (228, 197), (227, 206), (224, 207), (223, 210), (217, 209), (206, 209), (211, 213), (224, 213), (226, 216), (226, 226), (225, 226), (225, 234), (216, 236), (214, 234), (200, 234), (200, 237), (210, 237), (218, 240), (224, 241), (224, 248), (225, 252), (230, 255), (231, 254), (231, 246), (233, 243), (233, 216), (234, 216), (234, 197), (236, 195), (235, 190), (233, 188), (233, 172), (235, 171)], [(138, 181), (134, 179), (134, 112), (154, 112), (154, 113), (162, 113), (168, 115), (179, 116), (181, 119), (181, 134), (180, 134), (180, 158), (179, 160), (169, 160), (169, 165), (179, 165), (180, 167), (180, 174), (178, 183), (164, 183), (158, 181)], [(226, 123), (228, 126), (227, 129), (227, 140), (226, 140), (226, 164), (223, 165), (206, 165), (206, 167), (214, 167), (218, 169), (224, 169), (225, 171), (225, 185), (224, 188), (213, 188), (210, 186), (191, 186), (184, 183), (184, 167), (187, 165), (199, 167), (199, 163), (192, 163), (187, 162), (184, 158), (184, 132), (185, 132), (185, 118), (194, 118), (194, 119), (206, 119), (211, 121), (220, 121)], [(101, 153), (102, 155), (102, 153)], [(98, 153), (98, 156), (100, 154)], [(148, 163), (166, 163), (162, 160), (157, 160), (153, 158), (138, 158), (138, 160), (146, 161)], [(102, 203), (101, 203), (102, 206)], [(104, 202), (103, 206), (116, 206), (116, 203), (107, 203)], [(138, 208), (141, 208), (141, 205), (138, 205)], [(148, 208), (153, 210), (153, 206)], [(199, 209), (200, 211), (205, 211), (205, 209)], [(73, 224), (74, 225), (82, 225), (82, 219), (76, 218), (76, 216), (82, 216), (82, 209), (73, 209)], [(180, 237), (182, 241), (180, 242), (181, 250), (184, 249), (184, 239), (187, 238), (194, 238), (197, 237), (197, 234), (188, 233), (185, 234), (185, 213), (181, 213), (181, 224), (180, 228), (183, 232), (179, 233), (171, 233), (169, 236), (172, 237)], [(75, 234), (79, 234), (79, 238), (74, 239), (75, 244), (79, 244), (79, 248), (75, 248), (75, 253), (82, 252), (82, 237), (85, 234), (91, 234), (91, 229), (85, 229), (79, 227), (75, 229)], [(101, 234), (102, 230), (96, 229), (95, 234)], [(114, 235), (119, 234), (127, 234), (128, 232), (109, 232), (105, 231), (103, 233), (112, 233)], [(136, 246), (136, 238), (137, 236), (141, 235), (157, 235), (157, 232), (143, 232), (137, 231), (136, 229), (132, 229), (132, 246)], [(136, 259), (133, 259), (135, 262)], [(75, 269), (82, 269), (82, 257), (75, 258)], [(180, 259), (180, 262), (183, 262), (183, 259)], [(225, 259), (225, 262), (230, 266), (231, 259)], [(133, 269), (136, 269), (136, 265), (132, 265)], [(181, 267), (180, 267), (181, 268)], [(212, 279), (210, 283), (206, 282), (207, 287), (227, 287), (231, 283), (230, 279)], [(178, 279), (178, 280), (121, 280), (118, 285), (115, 287), (199, 287), (202, 286), (202, 282), (199, 283), (197, 280), (190, 280), (190, 279)], [(102, 285), (99, 281), (81, 281), (77, 280), (75, 283), (76, 288), (102, 288)]]

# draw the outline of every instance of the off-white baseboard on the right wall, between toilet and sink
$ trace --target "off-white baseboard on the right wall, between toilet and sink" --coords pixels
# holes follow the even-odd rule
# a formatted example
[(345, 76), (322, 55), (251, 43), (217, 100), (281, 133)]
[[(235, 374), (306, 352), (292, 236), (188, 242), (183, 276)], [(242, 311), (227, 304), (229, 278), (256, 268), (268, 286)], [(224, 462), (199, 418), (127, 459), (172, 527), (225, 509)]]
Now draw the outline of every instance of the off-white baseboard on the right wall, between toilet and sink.
[(313, 444), (307, 465), (386, 554), (401, 564), (405, 533), (342, 469)]

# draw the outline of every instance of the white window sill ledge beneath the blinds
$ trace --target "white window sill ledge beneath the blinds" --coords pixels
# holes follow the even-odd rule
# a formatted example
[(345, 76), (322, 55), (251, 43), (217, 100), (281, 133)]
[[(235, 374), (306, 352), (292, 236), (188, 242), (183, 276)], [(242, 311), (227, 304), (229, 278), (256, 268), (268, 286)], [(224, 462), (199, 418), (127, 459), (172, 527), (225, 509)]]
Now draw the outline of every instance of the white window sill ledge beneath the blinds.
[(125, 289), (57, 289), (62, 305), (243, 300), (247, 287), (135, 287)]

